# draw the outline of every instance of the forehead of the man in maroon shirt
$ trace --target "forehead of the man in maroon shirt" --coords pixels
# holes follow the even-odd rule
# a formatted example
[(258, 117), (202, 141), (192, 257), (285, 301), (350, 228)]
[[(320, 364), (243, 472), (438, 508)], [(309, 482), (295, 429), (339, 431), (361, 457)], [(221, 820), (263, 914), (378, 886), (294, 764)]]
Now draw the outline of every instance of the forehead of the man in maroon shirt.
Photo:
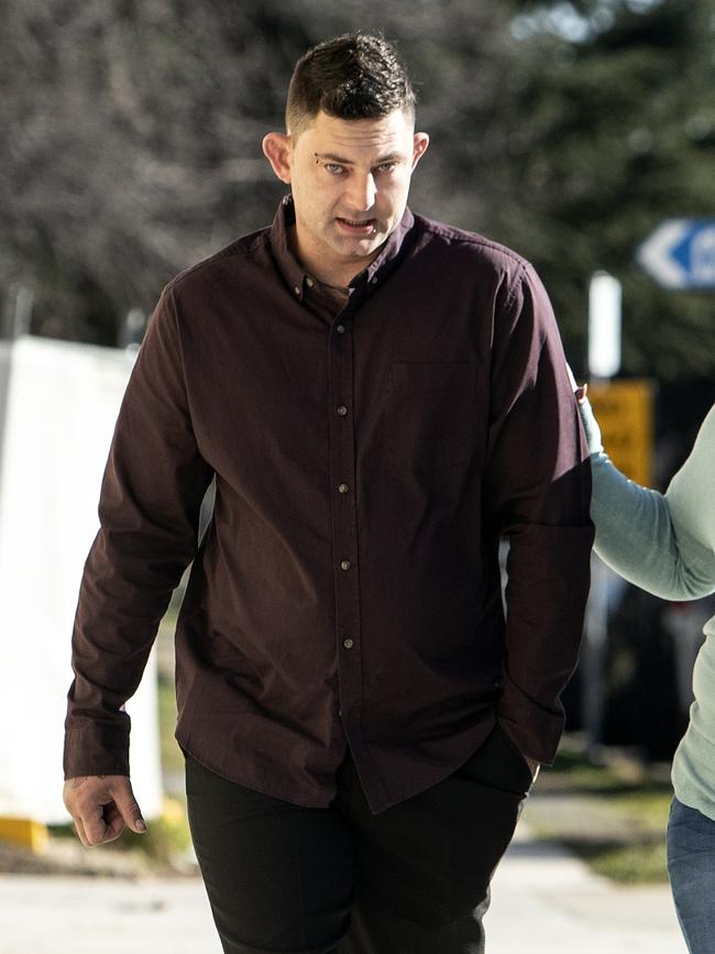
[(377, 119), (339, 119), (319, 112), (300, 134), (298, 146), (344, 154), (355, 160), (374, 154), (411, 151), (414, 122), (402, 110)]

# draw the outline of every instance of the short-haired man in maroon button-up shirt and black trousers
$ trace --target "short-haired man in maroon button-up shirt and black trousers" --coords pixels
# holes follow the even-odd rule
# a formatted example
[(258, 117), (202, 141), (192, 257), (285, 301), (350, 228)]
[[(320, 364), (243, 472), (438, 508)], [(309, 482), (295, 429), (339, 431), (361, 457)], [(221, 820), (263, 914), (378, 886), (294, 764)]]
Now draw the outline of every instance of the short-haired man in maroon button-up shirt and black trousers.
[(231, 954), (483, 951), (562, 730), (592, 542), (578, 409), (528, 263), (407, 209), (414, 106), (381, 37), (299, 61), (263, 143), (292, 197), (164, 289), (102, 484), (66, 803), (87, 845), (144, 827), (123, 703), (194, 560), (177, 739)]

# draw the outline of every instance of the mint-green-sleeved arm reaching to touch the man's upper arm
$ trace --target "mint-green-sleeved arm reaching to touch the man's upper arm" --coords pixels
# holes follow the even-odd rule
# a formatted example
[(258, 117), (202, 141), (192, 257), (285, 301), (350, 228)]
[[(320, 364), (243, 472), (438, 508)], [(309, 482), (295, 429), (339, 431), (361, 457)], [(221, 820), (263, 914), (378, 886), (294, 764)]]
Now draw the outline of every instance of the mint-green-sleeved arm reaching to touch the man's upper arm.
[(693, 600), (715, 589), (715, 553), (703, 536), (712, 496), (715, 409), (667, 493), (629, 481), (608, 459), (586, 397), (580, 402), (593, 470), (591, 516), (602, 560), (631, 583), (666, 600)]

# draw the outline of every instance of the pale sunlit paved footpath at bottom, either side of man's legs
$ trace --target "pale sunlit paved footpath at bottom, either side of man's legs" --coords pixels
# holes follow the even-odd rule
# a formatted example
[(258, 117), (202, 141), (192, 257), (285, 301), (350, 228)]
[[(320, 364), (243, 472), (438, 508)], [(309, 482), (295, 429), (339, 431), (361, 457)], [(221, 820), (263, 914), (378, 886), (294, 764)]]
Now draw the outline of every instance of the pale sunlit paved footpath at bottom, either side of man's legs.
[[(685, 952), (666, 886), (614, 887), (530, 842), (525, 827), (495, 876), (485, 926), (487, 954)], [(220, 954), (220, 945), (194, 878), (1, 875), (0, 954)]]

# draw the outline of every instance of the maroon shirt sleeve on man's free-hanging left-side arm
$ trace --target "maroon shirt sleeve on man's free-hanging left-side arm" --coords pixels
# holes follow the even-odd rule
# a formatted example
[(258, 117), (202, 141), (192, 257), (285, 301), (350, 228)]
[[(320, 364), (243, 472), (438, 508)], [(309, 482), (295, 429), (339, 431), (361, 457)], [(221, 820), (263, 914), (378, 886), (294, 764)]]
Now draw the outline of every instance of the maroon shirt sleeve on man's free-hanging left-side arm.
[(191, 561), (211, 470), (189, 415), (167, 286), (120, 408), (73, 633), (65, 776), (129, 774), (135, 692), (172, 592)]

